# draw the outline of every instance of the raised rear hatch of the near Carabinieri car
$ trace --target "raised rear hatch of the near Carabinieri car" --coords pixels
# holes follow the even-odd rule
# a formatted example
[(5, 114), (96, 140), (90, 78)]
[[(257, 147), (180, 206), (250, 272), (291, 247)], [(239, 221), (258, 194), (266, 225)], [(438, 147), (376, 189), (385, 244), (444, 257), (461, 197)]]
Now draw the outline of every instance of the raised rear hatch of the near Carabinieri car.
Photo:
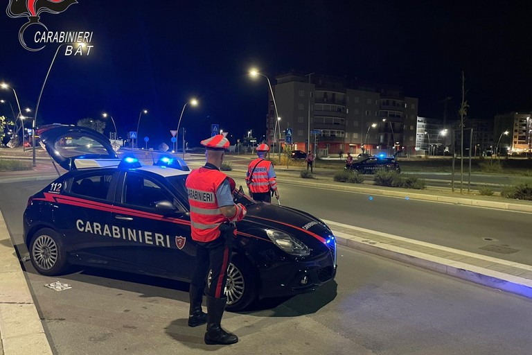
[(52, 159), (73, 170), (75, 159), (118, 159), (107, 137), (90, 128), (75, 125), (44, 125), (37, 128), (39, 143)]

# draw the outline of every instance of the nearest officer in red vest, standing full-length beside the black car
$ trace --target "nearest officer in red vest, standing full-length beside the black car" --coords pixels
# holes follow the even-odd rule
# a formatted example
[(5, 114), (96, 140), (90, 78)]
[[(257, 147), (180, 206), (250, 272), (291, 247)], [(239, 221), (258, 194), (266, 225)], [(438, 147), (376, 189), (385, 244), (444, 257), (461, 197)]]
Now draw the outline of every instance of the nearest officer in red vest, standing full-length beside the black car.
[[(188, 325), (197, 327), (207, 323), (205, 343), (227, 345), (238, 342), (238, 337), (222, 329), (227, 297), (224, 288), (227, 266), (231, 261), (231, 245), (236, 235), (234, 223), (242, 220), (246, 208), (233, 202), (230, 178), (220, 171), (229, 141), (215, 135), (202, 141), (206, 147), (206, 164), (193, 170), (186, 179), (190, 203), (190, 229), (197, 243), (195, 271), (190, 282), (190, 312)], [(206, 290), (207, 314), (202, 311), (206, 278), (212, 270), (212, 282)]]

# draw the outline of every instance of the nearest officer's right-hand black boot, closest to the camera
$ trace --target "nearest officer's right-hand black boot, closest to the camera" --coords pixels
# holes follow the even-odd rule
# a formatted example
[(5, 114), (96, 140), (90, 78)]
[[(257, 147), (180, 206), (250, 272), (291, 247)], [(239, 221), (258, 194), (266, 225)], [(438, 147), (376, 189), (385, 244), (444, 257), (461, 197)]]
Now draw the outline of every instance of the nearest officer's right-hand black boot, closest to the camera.
[(227, 333), (220, 325), (226, 302), (227, 297), (215, 298), (207, 296), (207, 331), (205, 333), (205, 344), (207, 345), (238, 343), (238, 336)]

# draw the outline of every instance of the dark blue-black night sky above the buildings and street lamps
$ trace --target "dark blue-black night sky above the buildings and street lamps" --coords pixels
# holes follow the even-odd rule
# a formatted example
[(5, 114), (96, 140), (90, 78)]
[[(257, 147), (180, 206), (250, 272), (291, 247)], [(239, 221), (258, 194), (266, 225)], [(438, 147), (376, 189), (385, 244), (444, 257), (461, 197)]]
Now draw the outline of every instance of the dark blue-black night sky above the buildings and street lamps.
[[(19, 29), (28, 19), (8, 17), (9, 1), (1, 3), (0, 80), (15, 87), (21, 107), (34, 109), (57, 44), (24, 49)], [(419, 98), (420, 116), (441, 118), (451, 96), (448, 119), (459, 109), (464, 71), (469, 117), (531, 111), (530, 3), (434, 3), (78, 0), (64, 12), (41, 14), (48, 31), (91, 31), (94, 48), (77, 56), (60, 49), (38, 123), (103, 119), (105, 111), (125, 137), (146, 109), (140, 136), (170, 146), (169, 131), (195, 97), (199, 106), (188, 105), (181, 121), (190, 146), (209, 137), (211, 123), (235, 139), (250, 129), (260, 137), (268, 87), (265, 78), (249, 77), (251, 67), (272, 84), (295, 70), (403, 87)], [(16, 111), (11, 91), (0, 98)], [(0, 105), (0, 114), (11, 116), (8, 106)]]

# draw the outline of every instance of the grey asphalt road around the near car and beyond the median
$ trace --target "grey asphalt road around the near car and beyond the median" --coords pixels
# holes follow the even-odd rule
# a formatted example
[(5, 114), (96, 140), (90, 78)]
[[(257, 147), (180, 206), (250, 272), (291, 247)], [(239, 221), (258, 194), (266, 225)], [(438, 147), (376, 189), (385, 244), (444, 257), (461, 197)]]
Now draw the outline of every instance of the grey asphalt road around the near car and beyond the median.
[[(21, 254), (25, 251), (22, 211), (28, 196), (45, 184), (0, 184), (0, 209)], [(490, 231), (502, 238), (501, 231), (515, 224), (520, 226), (507, 234), (522, 234), (530, 226), (522, 226), (530, 214), (406, 198), (370, 200), (364, 194), (282, 183), (280, 189), (283, 204), (322, 219), (415, 239), (426, 236), (432, 243), (474, 248), (480, 234)], [(478, 235), (461, 240), (476, 230)], [(530, 248), (527, 235), (515, 236), (522, 248)], [(44, 277), (29, 261), (24, 266), (53, 349), (61, 355), (208, 350), (218, 354), (530, 353), (529, 299), (348, 248), (339, 248), (338, 262), (335, 282), (315, 293), (226, 313), (224, 327), (241, 339), (230, 347), (207, 347), (204, 329), (186, 326), (187, 284), (97, 269)], [(57, 292), (44, 287), (57, 280), (72, 288)]]

